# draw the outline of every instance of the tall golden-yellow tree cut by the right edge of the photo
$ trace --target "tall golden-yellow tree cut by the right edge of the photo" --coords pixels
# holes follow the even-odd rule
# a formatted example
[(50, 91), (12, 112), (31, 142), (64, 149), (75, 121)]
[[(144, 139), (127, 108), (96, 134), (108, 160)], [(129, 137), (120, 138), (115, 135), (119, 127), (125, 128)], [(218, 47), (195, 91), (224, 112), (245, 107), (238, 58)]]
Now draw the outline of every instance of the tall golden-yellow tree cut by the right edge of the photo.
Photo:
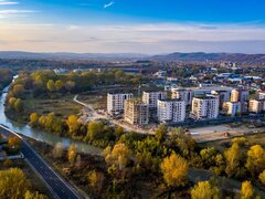
[(246, 168), (253, 177), (265, 169), (265, 150), (261, 145), (252, 146), (247, 151)]

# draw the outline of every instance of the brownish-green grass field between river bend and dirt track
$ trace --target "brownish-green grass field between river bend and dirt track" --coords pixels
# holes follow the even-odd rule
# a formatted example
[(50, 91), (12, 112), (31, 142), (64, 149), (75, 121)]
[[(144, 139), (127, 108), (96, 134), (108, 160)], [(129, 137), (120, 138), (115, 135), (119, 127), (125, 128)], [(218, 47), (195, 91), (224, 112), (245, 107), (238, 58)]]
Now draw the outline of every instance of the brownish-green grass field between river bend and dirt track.
[(40, 115), (54, 112), (57, 117), (67, 118), (68, 115), (77, 115), (82, 106), (73, 102), (74, 95), (62, 96), (56, 100), (29, 98), (24, 103), (29, 109)]

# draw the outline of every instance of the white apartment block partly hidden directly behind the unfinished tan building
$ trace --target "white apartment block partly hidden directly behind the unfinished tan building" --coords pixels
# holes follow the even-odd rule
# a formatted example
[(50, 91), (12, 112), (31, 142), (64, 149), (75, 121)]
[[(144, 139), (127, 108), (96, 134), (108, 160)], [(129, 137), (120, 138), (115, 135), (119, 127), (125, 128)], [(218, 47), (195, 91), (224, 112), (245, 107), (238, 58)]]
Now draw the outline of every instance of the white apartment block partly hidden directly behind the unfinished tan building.
[(167, 92), (144, 92), (142, 93), (142, 102), (149, 105), (150, 108), (157, 107), (157, 102), (159, 100), (166, 100)]

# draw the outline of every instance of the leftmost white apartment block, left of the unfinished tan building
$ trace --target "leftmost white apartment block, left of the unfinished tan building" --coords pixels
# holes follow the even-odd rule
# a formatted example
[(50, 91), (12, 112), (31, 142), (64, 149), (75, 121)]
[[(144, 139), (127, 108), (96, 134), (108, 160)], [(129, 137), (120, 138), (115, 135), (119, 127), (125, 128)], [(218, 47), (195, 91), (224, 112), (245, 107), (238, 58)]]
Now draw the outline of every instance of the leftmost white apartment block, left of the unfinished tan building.
[(108, 93), (107, 94), (107, 113), (109, 115), (120, 114), (124, 112), (126, 100), (132, 98), (132, 93)]

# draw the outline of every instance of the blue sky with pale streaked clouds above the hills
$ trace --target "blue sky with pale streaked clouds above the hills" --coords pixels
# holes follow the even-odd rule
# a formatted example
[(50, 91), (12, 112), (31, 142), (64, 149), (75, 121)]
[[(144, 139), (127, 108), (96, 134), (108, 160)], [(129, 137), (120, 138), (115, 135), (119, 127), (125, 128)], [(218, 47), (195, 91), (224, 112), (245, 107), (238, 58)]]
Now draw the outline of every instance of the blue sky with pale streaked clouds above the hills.
[(265, 53), (264, 0), (0, 0), (0, 51)]

